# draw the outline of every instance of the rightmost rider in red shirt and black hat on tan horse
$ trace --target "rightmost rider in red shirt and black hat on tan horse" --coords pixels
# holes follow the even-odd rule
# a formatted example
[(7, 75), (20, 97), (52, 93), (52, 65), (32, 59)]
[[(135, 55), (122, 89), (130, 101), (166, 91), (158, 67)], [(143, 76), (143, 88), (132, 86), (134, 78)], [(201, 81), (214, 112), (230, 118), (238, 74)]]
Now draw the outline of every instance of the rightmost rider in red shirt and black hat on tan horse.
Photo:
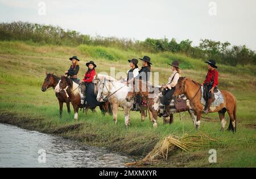
[(205, 63), (208, 63), (208, 73), (204, 83), (201, 85), (205, 87), (205, 90), (207, 90), (205, 92), (205, 107), (203, 110), (203, 112), (207, 114), (210, 111), (210, 105), (215, 100), (213, 90), (218, 85), (218, 71), (216, 70), (218, 67), (216, 66), (216, 62), (213, 59), (209, 59)]

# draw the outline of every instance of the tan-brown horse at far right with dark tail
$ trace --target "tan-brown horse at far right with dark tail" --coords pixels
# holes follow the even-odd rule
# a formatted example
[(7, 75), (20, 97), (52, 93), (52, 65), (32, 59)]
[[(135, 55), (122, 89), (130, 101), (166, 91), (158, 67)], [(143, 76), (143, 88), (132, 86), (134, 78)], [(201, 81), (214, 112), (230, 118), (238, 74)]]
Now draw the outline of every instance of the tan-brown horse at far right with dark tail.
[[(201, 84), (195, 82), (194, 80), (187, 78), (187, 77), (181, 77), (177, 84), (176, 84), (176, 90), (174, 92), (174, 98), (176, 99), (177, 96), (184, 94), (188, 97), (191, 108), (192, 108), (192, 116), (193, 116), (193, 122), (198, 129), (200, 127), (200, 118), (202, 111), (204, 109), (204, 105), (201, 104)], [(226, 120), (225, 120), (225, 112), (228, 112), (230, 117), (230, 123), (228, 130), (232, 130), (234, 133), (236, 132), (236, 112), (237, 112), (237, 100), (236, 97), (232, 95), (229, 91), (221, 91), (222, 96), (224, 97), (224, 103), (220, 104), (216, 107), (210, 107), (210, 113), (218, 112), (218, 115), (221, 120), (221, 130), (224, 131)]]

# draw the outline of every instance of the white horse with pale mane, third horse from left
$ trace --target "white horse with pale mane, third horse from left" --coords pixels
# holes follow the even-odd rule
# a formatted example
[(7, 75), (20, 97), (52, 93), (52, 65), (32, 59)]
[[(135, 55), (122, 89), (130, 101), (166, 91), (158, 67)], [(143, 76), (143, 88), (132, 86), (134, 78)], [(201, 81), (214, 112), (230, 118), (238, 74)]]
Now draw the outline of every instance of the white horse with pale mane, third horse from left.
[[(133, 107), (134, 101), (127, 102), (125, 100), (127, 92), (129, 91), (129, 86), (122, 83), (121, 81), (115, 80), (111, 76), (107, 75), (97, 75), (94, 79), (94, 84), (96, 85), (96, 93), (98, 101), (109, 101), (112, 106), (113, 120), (117, 123), (117, 113), (118, 107), (124, 109), (125, 111), (125, 125), (130, 125), (130, 110)], [(148, 111), (149, 116), (152, 114)], [(144, 110), (141, 110), (141, 119), (144, 121), (145, 118)]]

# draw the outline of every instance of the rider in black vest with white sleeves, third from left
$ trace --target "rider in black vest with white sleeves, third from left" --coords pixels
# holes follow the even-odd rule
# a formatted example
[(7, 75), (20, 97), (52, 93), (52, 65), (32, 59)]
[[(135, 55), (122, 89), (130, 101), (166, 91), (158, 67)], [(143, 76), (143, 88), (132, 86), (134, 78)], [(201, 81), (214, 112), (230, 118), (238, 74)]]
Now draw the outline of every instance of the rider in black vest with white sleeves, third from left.
[[(127, 85), (129, 84), (130, 80), (138, 76), (139, 69), (138, 69), (138, 59), (129, 59), (128, 62), (130, 62), (131, 69), (127, 71)], [(139, 104), (137, 101), (134, 101), (133, 109), (132, 110), (139, 110)]]

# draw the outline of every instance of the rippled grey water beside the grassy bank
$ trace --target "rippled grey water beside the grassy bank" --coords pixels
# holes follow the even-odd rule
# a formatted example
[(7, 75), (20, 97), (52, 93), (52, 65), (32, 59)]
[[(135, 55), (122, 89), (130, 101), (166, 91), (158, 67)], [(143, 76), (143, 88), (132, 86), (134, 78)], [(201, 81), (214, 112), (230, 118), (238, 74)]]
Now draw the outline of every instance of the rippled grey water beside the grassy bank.
[(124, 167), (131, 161), (104, 148), (0, 123), (0, 167)]

